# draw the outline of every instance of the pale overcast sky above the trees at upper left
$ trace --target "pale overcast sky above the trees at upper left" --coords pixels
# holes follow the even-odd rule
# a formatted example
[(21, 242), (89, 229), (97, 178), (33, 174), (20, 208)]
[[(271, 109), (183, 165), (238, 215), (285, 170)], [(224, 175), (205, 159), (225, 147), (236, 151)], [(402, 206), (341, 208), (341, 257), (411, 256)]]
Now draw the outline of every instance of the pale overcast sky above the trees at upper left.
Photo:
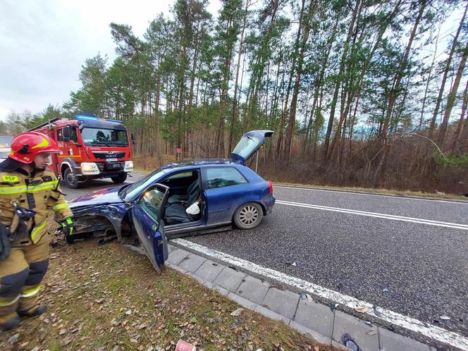
[[(218, 1), (209, 11), (216, 15)], [(0, 119), (62, 104), (80, 88), (86, 58), (116, 57), (109, 23), (141, 36), (173, 0), (0, 0)]]

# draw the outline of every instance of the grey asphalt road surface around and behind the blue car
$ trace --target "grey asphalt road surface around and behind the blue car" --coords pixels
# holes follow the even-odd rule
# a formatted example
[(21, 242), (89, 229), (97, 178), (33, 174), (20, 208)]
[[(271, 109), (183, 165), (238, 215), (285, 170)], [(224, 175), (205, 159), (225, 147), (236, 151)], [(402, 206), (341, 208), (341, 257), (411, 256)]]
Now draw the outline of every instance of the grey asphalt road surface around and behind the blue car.
[[(63, 190), (71, 199), (110, 185), (99, 180)], [(279, 202), (256, 229), (188, 240), (468, 335), (468, 230), (452, 226), (468, 224), (468, 203), (289, 187), (274, 192)]]

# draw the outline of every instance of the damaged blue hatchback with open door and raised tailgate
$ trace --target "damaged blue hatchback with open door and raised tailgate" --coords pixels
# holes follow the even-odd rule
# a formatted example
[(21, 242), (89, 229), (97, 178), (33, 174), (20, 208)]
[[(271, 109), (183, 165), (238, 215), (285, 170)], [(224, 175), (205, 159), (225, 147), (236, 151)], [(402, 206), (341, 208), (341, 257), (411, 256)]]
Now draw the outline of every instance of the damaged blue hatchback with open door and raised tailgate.
[(168, 238), (257, 227), (275, 203), (273, 186), (245, 165), (271, 130), (242, 135), (230, 159), (198, 159), (162, 166), (142, 180), (70, 202), (75, 230), (116, 238), (147, 255), (156, 270), (168, 257)]

